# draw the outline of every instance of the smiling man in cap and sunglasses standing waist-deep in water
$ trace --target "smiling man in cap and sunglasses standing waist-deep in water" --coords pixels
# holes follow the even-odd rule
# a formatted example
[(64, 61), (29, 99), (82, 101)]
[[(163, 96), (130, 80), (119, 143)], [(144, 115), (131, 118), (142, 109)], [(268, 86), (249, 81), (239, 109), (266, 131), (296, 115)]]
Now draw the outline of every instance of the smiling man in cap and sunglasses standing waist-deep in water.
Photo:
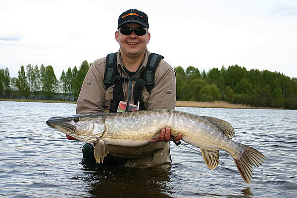
[[(143, 72), (148, 67), (150, 54), (147, 49), (150, 40), (148, 27), (147, 14), (139, 10), (130, 9), (119, 16), (115, 40), (119, 42), (120, 49), (115, 55), (96, 60), (90, 67), (77, 100), (77, 114), (115, 112), (120, 102), (118, 99), (120, 94), (122, 94), (121, 100), (138, 105), (140, 109), (175, 109), (175, 73), (168, 63), (160, 60), (156, 65), (152, 77), (154, 85), (151, 90), (148, 89), (148, 85), (142, 88), (143, 81), (137, 80), (144, 78)], [(106, 65), (109, 65), (107, 61), (112, 62), (110, 57), (113, 57), (116, 62), (114, 65), (117, 78), (111, 78), (112, 72), (108, 73), (112, 68), (106, 69)], [(106, 78), (111, 78), (110, 84), (106, 84), (108, 81)], [(118, 79), (118, 81), (112, 79)], [(141, 82), (140, 85), (136, 85), (138, 81)], [(136, 86), (141, 87), (138, 98)], [(71, 139), (69, 136), (67, 138)], [(182, 136), (178, 135), (176, 138), (179, 140)], [(150, 140), (147, 145), (141, 147), (108, 145), (109, 154), (104, 158), (103, 163), (139, 168), (153, 166), (169, 168), (171, 158), (168, 141), (170, 140), (172, 140), (170, 128), (167, 127), (160, 131), (158, 138)], [(85, 158), (83, 164), (89, 163), (86, 161), (86, 156), (90, 148), (92, 148), (91, 144), (86, 144), (83, 148)], [(92, 154), (92, 150), (90, 153)]]

